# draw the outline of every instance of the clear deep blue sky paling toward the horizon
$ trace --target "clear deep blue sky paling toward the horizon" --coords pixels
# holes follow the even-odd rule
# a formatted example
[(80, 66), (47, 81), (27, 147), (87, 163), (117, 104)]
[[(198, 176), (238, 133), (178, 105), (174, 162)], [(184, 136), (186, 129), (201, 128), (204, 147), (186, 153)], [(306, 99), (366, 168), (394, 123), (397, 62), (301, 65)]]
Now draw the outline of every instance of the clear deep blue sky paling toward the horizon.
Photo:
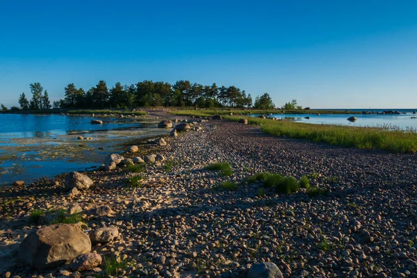
[(29, 83), (236, 85), (311, 108), (417, 108), (417, 1), (1, 1), (0, 102)]

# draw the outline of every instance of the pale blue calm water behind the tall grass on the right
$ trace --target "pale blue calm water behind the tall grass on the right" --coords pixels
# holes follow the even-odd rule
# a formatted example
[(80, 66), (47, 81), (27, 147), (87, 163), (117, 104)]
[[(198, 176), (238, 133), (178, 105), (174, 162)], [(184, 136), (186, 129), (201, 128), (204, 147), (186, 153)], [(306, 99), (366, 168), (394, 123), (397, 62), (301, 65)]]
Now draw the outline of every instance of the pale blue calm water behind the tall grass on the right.
[[(335, 111), (345, 111), (345, 109), (334, 109)], [(411, 117), (417, 117), (417, 114), (413, 114), (413, 111), (417, 109), (349, 109), (350, 111), (370, 111), (370, 112), (382, 112), (387, 110), (398, 111), (399, 115), (378, 115), (378, 114), (325, 114), (316, 115), (314, 110), (311, 110), (311, 114), (274, 114), (267, 115), (267, 117), (277, 117), (279, 119), (295, 120), (295, 122), (304, 122), (308, 124), (341, 124), (347, 126), (393, 126), (402, 130), (416, 129), (417, 119)], [(252, 115), (257, 117), (258, 115)], [(356, 122), (350, 122), (348, 117), (357, 117)], [(305, 119), (310, 117), (310, 119)]]

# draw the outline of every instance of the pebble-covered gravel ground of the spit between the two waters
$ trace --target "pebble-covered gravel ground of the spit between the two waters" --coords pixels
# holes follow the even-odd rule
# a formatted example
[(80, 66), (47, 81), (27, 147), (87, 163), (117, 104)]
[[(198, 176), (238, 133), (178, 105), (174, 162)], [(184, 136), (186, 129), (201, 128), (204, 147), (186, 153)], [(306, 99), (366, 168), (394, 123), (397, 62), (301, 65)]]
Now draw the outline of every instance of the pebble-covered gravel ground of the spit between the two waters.
[[(36, 228), (28, 217), (34, 208), (77, 203), (85, 231), (119, 230), (117, 240), (94, 250), (129, 261), (120, 277), (246, 277), (251, 265), (264, 261), (276, 263), (284, 277), (417, 277), (416, 154), (275, 138), (222, 120), (201, 126), (165, 138), (164, 147), (140, 145), (141, 154), (166, 158), (148, 165), (140, 188), (127, 187), (124, 178), (133, 174), (117, 167), (87, 172), (95, 183), (77, 197), (65, 193), (63, 175), (2, 189), (0, 272), (74, 277), (67, 265), (33, 272), (13, 254)], [(229, 162), (234, 174), (206, 170), (213, 162)], [(257, 172), (309, 175), (311, 186), (328, 193), (266, 189), (260, 196), (261, 185), (246, 182)], [(238, 189), (220, 190), (222, 181), (236, 181)], [(103, 205), (113, 213), (89, 213)]]

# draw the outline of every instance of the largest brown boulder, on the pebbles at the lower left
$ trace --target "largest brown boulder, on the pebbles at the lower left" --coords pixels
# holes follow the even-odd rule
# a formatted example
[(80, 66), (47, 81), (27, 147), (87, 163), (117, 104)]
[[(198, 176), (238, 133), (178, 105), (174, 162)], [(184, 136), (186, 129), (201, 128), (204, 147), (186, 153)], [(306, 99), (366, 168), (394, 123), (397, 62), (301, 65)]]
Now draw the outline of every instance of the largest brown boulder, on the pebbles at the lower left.
[(19, 259), (36, 269), (54, 268), (91, 251), (90, 238), (72, 224), (54, 224), (29, 234), (19, 245)]

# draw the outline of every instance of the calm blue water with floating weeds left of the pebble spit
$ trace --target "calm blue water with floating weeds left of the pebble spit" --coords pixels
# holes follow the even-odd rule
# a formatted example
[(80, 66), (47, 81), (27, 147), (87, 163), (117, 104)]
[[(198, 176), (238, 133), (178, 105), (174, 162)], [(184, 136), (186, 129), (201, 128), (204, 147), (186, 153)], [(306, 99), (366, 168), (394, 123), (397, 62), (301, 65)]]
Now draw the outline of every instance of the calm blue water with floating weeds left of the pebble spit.
[[(118, 143), (167, 132), (157, 129), (157, 120), (149, 118), (101, 119), (104, 124), (91, 124), (91, 120), (85, 116), (0, 114), (0, 185), (88, 170), (101, 165), (107, 154), (123, 152)], [(79, 136), (92, 140), (78, 140)]]

